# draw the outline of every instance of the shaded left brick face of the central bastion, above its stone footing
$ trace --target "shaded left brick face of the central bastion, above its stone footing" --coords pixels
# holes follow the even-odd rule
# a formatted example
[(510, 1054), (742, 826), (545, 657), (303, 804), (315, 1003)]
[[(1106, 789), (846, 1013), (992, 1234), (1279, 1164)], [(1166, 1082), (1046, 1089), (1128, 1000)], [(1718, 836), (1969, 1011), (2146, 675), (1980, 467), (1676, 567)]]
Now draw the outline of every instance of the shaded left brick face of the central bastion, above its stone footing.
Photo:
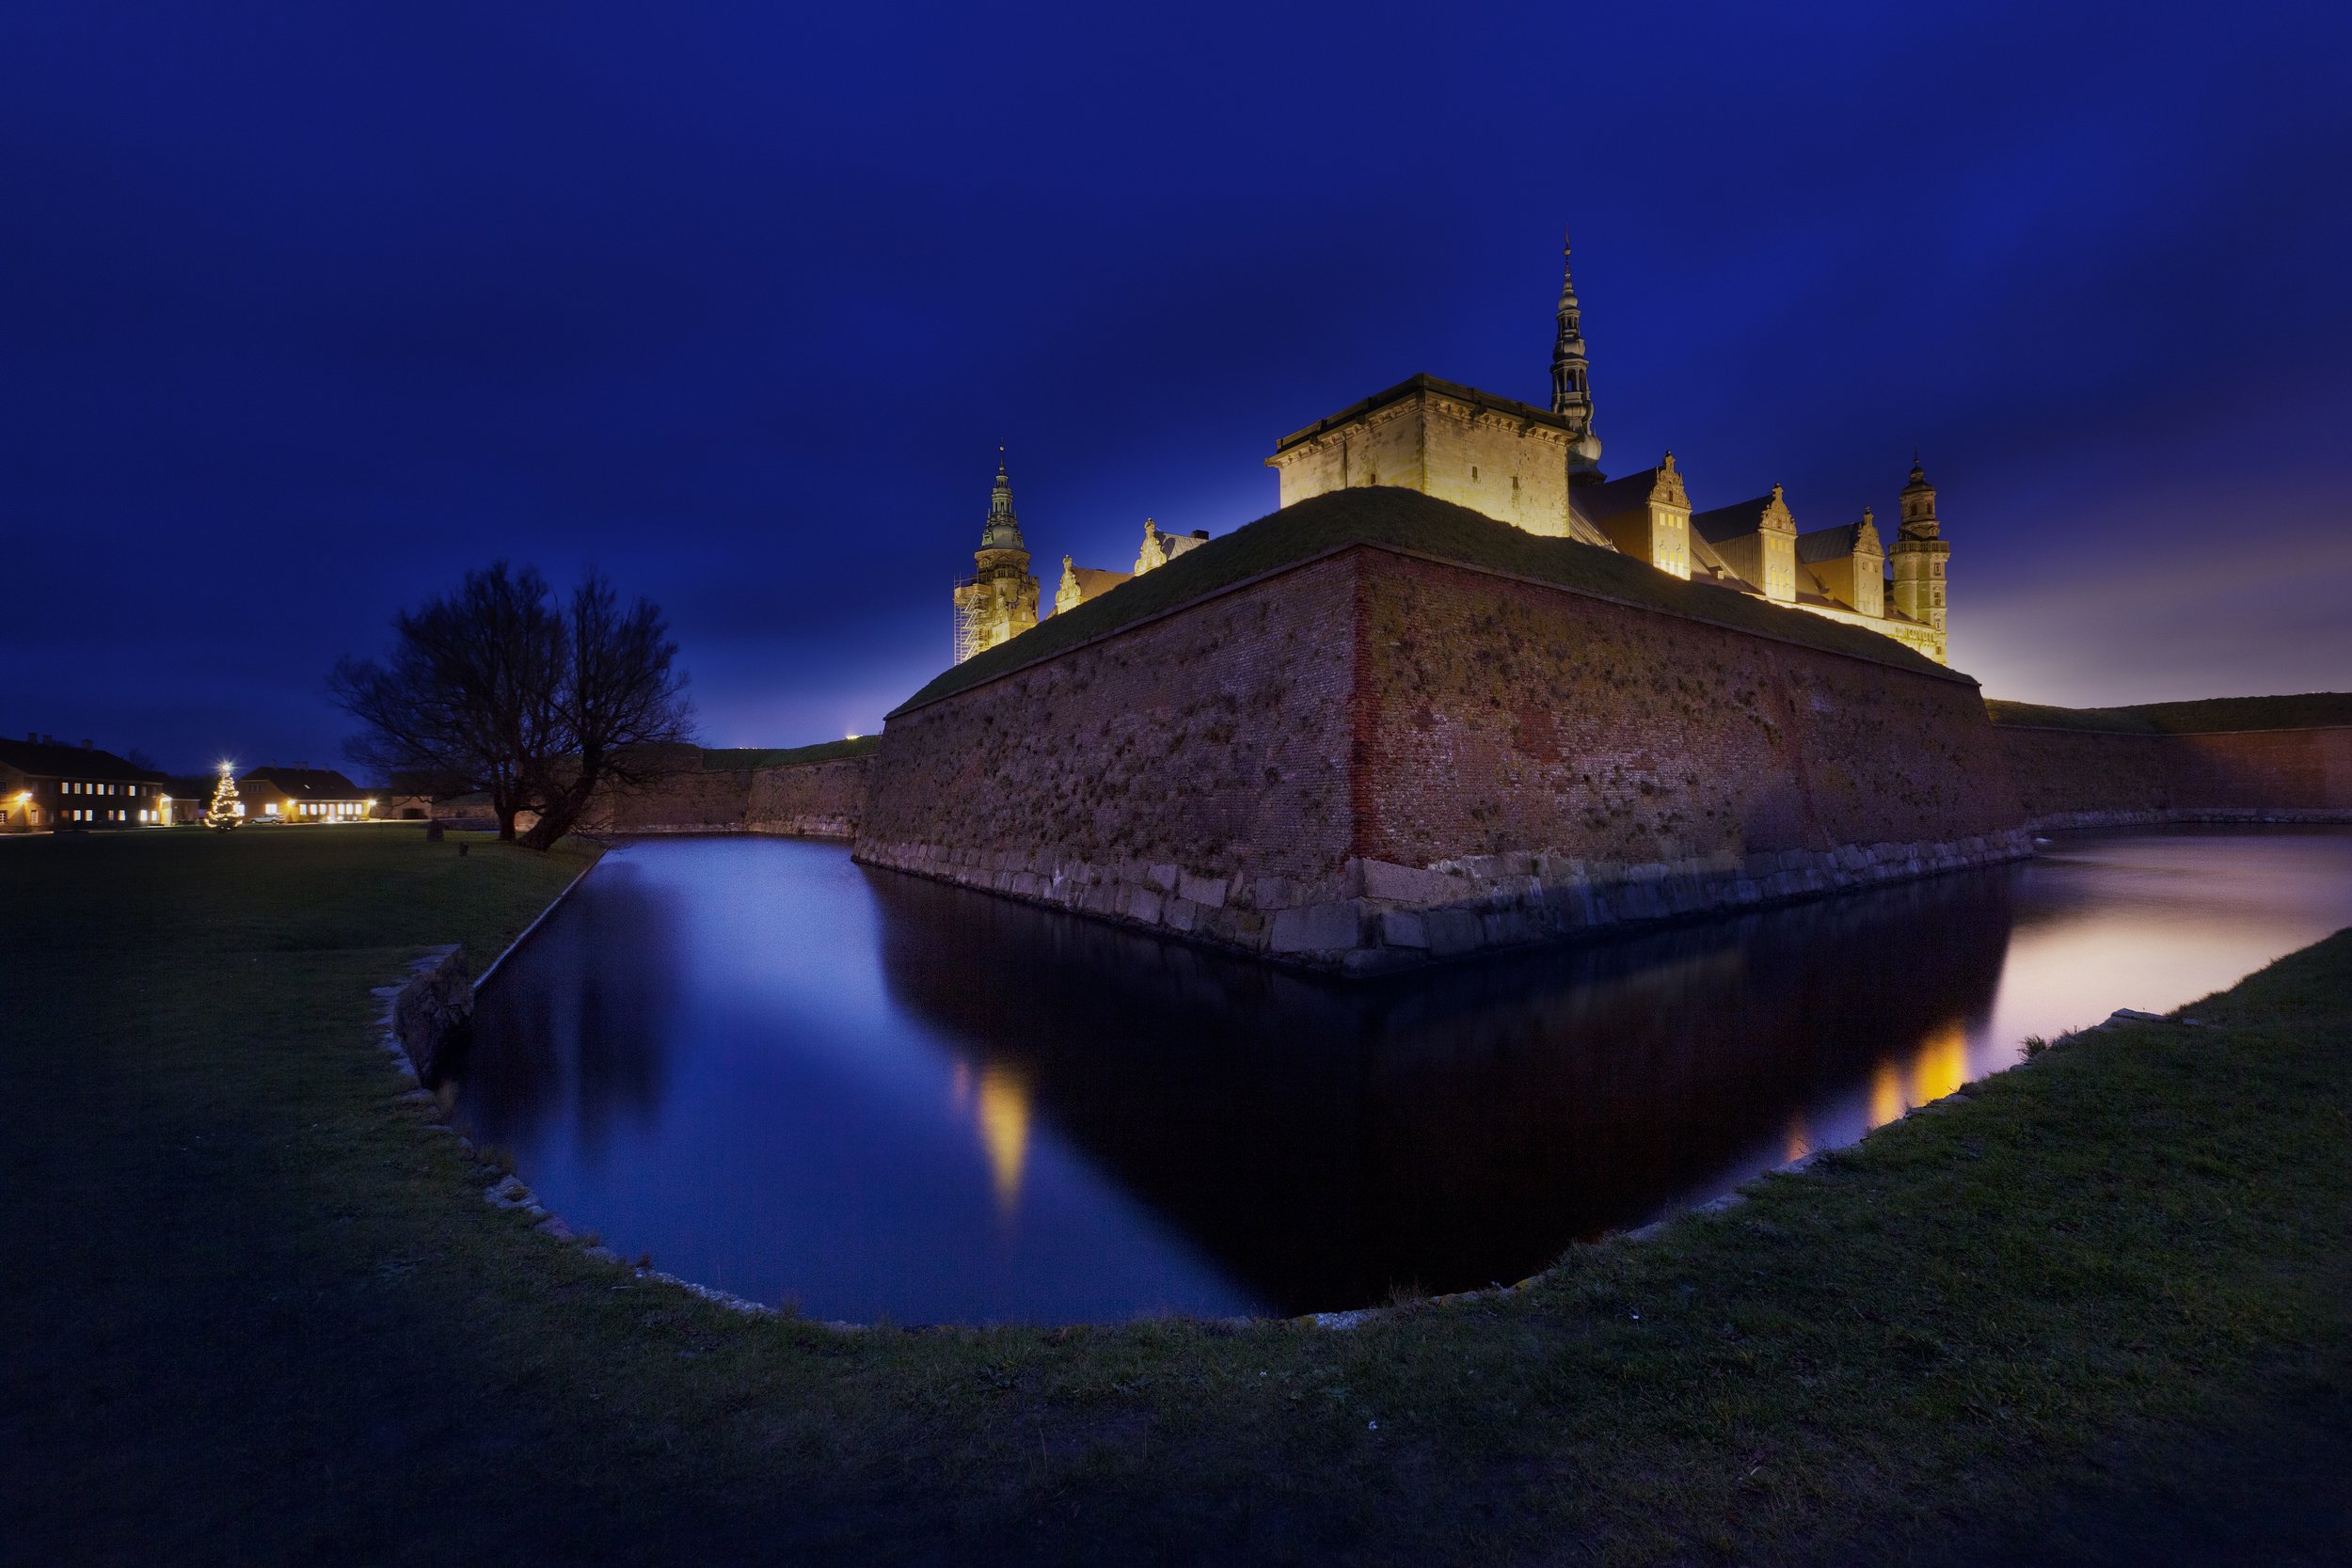
[(1171, 863), (1197, 877), (1334, 875), (1348, 858), (1359, 557), (894, 717), (861, 846)]

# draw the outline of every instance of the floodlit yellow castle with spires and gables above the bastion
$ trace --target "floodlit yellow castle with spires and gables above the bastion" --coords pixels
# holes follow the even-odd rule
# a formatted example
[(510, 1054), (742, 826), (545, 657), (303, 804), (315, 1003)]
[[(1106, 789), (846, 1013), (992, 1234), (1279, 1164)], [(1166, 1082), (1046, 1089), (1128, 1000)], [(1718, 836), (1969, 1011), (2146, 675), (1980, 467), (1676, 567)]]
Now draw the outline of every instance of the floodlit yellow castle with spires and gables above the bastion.
[[(1265, 458), (1279, 475), (1282, 505), (1374, 484), (1416, 489), (1529, 534), (1573, 538), (1682, 581), (1858, 625), (1950, 663), (1945, 564), (1952, 548), (1940, 536), (1936, 489), (1917, 461), (1900, 494), (1891, 550), (1867, 508), (1858, 522), (1799, 529), (1778, 484), (1696, 512), (1672, 451), (1642, 473), (1616, 480), (1602, 473), (1583, 310), (1566, 254), (1562, 247), (1550, 409), (1414, 376), (1282, 437)], [(1065, 555), (1054, 614), (1202, 541), (1204, 531), (1162, 534), (1145, 520), (1134, 571), (1075, 567)], [(955, 585), (957, 663), (1037, 625), (1040, 590), (1028, 562), (1011, 482), (997, 463), (976, 574)]]

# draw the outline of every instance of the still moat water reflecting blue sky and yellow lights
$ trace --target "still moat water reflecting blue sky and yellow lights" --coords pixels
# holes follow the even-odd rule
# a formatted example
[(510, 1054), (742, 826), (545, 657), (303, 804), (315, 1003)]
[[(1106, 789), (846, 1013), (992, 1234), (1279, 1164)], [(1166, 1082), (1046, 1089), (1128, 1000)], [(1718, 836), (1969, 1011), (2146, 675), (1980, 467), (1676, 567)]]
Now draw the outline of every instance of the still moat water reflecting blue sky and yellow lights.
[(1308, 1312), (1522, 1279), (2352, 924), (2347, 830), (2042, 858), (1338, 987), (868, 872), (616, 849), (459, 1119), (623, 1255), (826, 1319)]

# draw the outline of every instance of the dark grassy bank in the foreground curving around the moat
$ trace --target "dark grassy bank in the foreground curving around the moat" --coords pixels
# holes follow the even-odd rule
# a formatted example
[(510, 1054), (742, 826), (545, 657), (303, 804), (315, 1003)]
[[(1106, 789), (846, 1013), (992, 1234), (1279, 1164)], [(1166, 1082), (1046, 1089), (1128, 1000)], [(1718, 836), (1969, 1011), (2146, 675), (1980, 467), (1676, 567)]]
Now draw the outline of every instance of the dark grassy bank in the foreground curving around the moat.
[(847, 1335), (532, 1234), (395, 1095), (369, 987), (579, 865), (0, 844), (0, 1556), (2147, 1563), (2352, 1528), (2352, 933), (1519, 1293)]

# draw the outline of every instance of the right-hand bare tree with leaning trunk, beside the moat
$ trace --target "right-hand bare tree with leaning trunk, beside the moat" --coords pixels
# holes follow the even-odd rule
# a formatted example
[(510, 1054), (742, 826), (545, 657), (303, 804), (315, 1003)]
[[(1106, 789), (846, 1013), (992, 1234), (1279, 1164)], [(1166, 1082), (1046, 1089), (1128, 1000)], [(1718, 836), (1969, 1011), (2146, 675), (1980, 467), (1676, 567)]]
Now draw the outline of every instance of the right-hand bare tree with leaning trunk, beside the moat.
[(691, 708), (677, 644), (652, 599), (626, 611), (602, 574), (572, 590), (564, 616), (564, 670), (555, 689), (557, 724), (569, 741), (557, 771), (541, 780), (539, 823), (522, 837), (546, 849), (572, 830), (590, 795), (607, 783), (640, 783), (635, 748), (684, 741)]

